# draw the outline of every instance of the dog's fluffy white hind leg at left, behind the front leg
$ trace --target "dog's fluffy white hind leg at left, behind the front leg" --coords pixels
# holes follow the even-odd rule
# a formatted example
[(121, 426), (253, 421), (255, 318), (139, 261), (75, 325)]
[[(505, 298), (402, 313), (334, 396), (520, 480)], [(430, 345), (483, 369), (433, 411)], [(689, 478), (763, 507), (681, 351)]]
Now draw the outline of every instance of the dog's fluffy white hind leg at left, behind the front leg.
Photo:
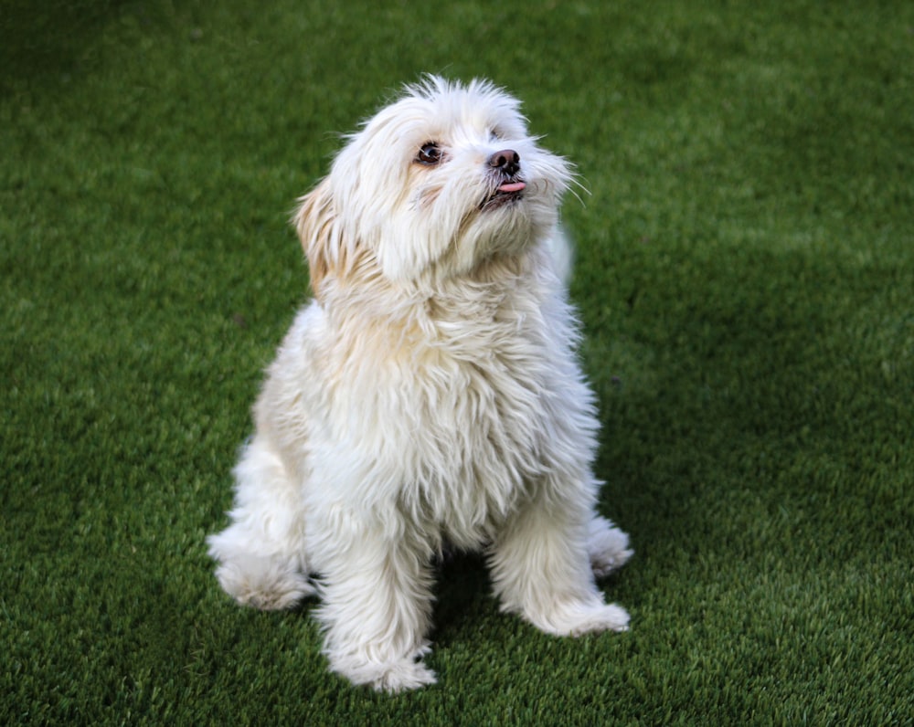
[(282, 460), (255, 437), (235, 468), (231, 524), (207, 538), (219, 584), (242, 606), (279, 609), (314, 594), (302, 503)]

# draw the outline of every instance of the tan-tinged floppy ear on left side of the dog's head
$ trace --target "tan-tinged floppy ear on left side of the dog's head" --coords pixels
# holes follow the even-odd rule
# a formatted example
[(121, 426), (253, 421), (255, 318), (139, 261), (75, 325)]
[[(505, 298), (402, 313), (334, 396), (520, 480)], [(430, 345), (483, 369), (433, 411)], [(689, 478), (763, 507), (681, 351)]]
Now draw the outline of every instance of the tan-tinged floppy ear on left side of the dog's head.
[(339, 265), (340, 257), (344, 254), (340, 246), (339, 227), (328, 179), (324, 178), (311, 192), (299, 199), (292, 224), (302, 240), (304, 254), (308, 258), (314, 297), (321, 300), (324, 279)]

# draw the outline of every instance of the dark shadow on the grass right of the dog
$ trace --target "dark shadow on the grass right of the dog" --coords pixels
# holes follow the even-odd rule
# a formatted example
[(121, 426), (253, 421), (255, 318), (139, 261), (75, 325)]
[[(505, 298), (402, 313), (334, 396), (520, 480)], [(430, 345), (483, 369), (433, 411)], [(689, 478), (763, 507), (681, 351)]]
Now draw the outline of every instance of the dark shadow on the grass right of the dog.
[(803, 452), (840, 455), (834, 358), (857, 353), (835, 335), (853, 307), (848, 275), (834, 258), (752, 246), (675, 258), (662, 288), (632, 269), (639, 295), (621, 332), (588, 353), (614, 360), (590, 366), (604, 419), (596, 469), (603, 509), (636, 552), (696, 548), (696, 533), (722, 541), (724, 522), (747, 517), (743, 499), (763, 508), (808, 494), (781, 476)]

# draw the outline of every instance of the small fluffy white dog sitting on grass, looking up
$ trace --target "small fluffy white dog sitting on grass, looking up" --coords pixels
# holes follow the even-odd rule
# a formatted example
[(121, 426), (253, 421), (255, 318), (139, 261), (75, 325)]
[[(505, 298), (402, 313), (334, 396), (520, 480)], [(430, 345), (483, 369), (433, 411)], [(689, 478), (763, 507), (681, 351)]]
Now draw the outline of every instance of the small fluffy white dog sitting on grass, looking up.
[(318, 594), (331, 668), (434, 682), (432, 563), (483, 551), (505, 611), (622, 631), (594, 576), (632, 554), (595, 511), (598, 423), (550, 248), (569, 164), (492, 84), (428, 77), (348, 139), (294, 216), (314, 300), (254, 407), (231, 524), (240, 603)]

